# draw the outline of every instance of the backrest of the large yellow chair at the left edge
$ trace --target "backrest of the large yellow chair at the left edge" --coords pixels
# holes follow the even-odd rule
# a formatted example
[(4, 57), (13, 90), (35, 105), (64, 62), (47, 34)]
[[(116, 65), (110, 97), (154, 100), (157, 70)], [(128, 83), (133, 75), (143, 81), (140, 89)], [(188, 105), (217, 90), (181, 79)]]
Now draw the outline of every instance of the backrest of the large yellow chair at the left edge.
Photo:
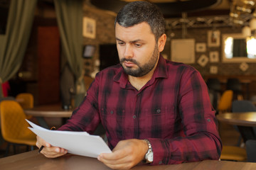
[(17, 101), (1, 101), (1, 133), (4, 140), (26, 137), (31, 131), (26, 122), (26, 115)]

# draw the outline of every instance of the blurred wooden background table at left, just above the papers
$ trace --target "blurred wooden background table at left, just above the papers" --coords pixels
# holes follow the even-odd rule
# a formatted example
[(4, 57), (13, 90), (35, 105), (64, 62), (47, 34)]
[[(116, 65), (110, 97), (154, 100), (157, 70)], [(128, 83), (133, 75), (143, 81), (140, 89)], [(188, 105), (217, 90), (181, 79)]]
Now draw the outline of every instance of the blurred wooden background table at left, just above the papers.
[(52, 104), (52, 105), (42, 105), (36, 106), (34, 108), (25, 109), (24, 113), (26, 115), (35, 116), (38, 120), (38, 123), (43, 128), (49, 128), (46, 120), (44, 118), (70, 118), (72, 115), (72, 110), (64, 110), (61, 108), (60, 104)]

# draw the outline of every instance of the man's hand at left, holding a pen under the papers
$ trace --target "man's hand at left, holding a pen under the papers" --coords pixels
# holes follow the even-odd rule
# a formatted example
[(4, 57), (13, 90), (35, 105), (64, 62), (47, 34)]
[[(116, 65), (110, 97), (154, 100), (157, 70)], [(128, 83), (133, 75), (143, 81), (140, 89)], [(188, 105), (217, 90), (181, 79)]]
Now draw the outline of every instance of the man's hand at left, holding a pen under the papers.
[(64, 154), (68, 153), (66, 149), (63, 149), (61, 147), (53, 147), (51, 146), (48, 142), (43, 140), (41, 137), (36, 136), (36, 146), (40, 148), (41, 146), (43, 147), (43, 150), (41, 150), (40, 153), (42, 153), (44, 156), (48, 158), (55, 158), (55, 157), (60, 157), (63, 156)]

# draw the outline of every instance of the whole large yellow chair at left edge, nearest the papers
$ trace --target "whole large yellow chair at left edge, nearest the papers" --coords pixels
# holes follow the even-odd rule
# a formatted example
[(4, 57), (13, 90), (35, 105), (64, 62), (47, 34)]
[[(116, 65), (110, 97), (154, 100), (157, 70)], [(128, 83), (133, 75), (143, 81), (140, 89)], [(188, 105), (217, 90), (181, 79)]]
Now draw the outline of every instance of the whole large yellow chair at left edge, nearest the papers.
[(13, 145), (14, 148), (16, 145), (27, 145), (31, 146), (31, 149), (36, 146), (36, 135), (28, 129), (29, 125), (25, 120), (26, 115), (18, 102), (1, 101), (0, 114), (1, 134), (4, 140), (8, 142), (6, 155), (10, 145)]

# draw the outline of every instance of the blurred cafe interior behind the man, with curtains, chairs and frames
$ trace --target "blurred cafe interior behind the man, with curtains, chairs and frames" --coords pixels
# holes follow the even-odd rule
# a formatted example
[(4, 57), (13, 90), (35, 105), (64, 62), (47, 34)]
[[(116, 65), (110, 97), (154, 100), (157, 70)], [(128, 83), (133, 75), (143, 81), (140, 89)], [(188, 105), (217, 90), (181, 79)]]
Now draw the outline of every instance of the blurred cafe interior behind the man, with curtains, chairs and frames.
[[(35, 146), (35, 135), (22, 143), (10, 134), (27, 130), (25, 118), (60, 127), (95, 74), (119, 63), (114, 19), (133, 0), (78, 1), (0, 0), (0, 157)], [(256, 162), (256, 1), (145, 1), (164, 14), (167, 40), (161, 55), (195, 67), (206, 81), (223, 140), (220, 159)], [(14, 106), (4, 101), (13, 101), (16, 109), (7, 109)], [(33, 108), (46, 115), (33, 115)], [(49, 113), (43, 112), (47, 108)], [(63, 115), (49, 115), (57, 110)], [(10, 120), (5, 111), (16, 113), (9, 113)], [(20, 128), (5, 132), (11, 123)], [(98, 131), (104, 137), (102, 127)]]

